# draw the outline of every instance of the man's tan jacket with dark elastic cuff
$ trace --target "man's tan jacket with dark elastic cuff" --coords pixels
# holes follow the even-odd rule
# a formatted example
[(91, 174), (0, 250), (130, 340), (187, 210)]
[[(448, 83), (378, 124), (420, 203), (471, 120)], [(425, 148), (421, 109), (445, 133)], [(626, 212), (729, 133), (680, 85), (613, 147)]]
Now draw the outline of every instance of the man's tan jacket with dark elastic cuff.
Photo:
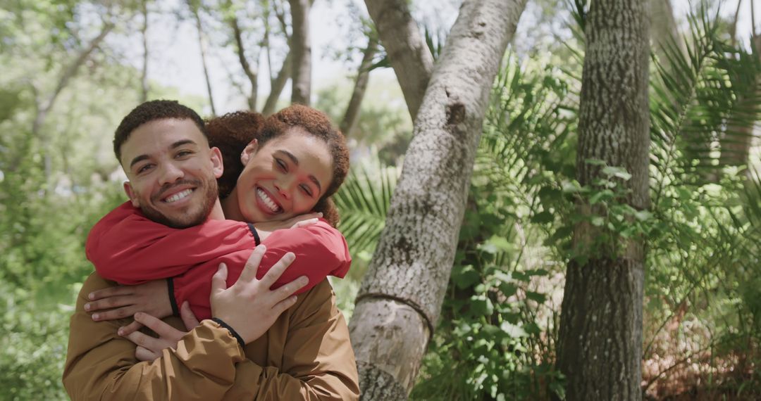
[[(71, 320), (63, 384), (72, 399), (358, 399), (349, 329), (327, 280), (298, 302), (245, 354), (230, 332), (203, 320), (154, 362), (116, 335), (129, 320), (94, 322), (87, 295), (111, 282), (93, 273)], [(183, 329), (178, 317), (164, 319)]]

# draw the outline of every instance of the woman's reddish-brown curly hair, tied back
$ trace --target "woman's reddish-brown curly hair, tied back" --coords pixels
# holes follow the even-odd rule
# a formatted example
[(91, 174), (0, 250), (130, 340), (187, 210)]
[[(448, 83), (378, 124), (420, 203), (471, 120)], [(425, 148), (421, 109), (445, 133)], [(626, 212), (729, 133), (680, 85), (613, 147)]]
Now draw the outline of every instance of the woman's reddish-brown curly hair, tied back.
[(237, 184), (244, 165), (240, 162), (240, 153), (253, 139), (263, 147), (267, 142), (286, 134), (289, 128), (301, 128), (307, 134), (320, 138), (328, 147), (333, 158), (333, 174), (325, 194), (320, 197), (314, 210), (322, 212), (323, 217), (333, 226), (339, 221), (330, 196), (338, 191), (349, 173), (349, 149), (341, 131), (330, 122), (323, 112), (308, 106), (292, 105), (264, 118), (256, 112), (232, 112), (206, 122), (209, 129), (209, 144), (218, 147), (222, 153), (224, 172), (217, 180), (219, 196), (228, 197)]

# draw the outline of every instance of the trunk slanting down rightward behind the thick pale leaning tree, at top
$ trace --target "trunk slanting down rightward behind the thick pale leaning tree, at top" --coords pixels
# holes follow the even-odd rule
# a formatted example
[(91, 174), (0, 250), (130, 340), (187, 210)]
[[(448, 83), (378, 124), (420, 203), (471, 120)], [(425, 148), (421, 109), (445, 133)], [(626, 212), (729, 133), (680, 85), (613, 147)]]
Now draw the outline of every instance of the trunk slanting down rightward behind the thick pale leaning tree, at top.
[(408, 3), (407, 0), (365, 0), (414, 122), (431, 79), (433, 55), (420, 36)]

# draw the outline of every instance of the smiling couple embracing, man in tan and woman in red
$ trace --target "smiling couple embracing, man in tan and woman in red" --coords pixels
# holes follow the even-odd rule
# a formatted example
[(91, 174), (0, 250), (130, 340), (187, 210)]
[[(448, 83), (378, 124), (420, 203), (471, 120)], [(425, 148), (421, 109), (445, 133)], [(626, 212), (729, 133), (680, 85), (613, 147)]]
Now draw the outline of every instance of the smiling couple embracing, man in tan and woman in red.
[(204, 122), (157, 100), (113, 143), (129, 201), (88, 235), (97, 273), (71, 320), (72, 399), (357, 399), (326, 280), (351, 264), (330, 200), (349, 153), (326, 115)]

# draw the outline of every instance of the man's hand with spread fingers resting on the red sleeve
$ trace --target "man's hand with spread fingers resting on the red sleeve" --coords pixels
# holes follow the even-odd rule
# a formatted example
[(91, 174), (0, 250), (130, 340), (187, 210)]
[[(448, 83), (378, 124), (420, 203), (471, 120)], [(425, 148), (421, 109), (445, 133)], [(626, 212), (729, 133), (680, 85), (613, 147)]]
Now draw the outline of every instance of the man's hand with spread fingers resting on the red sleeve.
[(269, 287), (296, 257), (288, 252), (262, 279), (256, 279), (256, 270), (265, 251), (264, 245), (253, 250), (237, 282), (229, 289), (227, 266), (221, 264), (212, 277), (212, 316), (232, 327), (244, 343), (258, 339), (269, 330), (280, 314), (296, 303), (293, 293), (309, 283), (306, 276), (301, 276), (279, 289), (270, 290)]

